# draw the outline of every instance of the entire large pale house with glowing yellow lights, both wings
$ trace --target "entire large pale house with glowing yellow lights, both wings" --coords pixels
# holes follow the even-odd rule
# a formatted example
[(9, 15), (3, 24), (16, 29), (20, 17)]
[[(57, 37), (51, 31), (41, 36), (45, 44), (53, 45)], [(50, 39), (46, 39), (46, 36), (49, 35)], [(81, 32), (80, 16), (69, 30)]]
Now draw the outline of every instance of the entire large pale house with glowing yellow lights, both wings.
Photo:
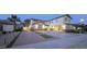
[(31, 18), (29, 28), (34, 30), (65, 31), (66, 29), (73, 29), (73, 26), (69, 25), (70, 21), (72, 17), (69, 14), (65, 14), (50, 21)]

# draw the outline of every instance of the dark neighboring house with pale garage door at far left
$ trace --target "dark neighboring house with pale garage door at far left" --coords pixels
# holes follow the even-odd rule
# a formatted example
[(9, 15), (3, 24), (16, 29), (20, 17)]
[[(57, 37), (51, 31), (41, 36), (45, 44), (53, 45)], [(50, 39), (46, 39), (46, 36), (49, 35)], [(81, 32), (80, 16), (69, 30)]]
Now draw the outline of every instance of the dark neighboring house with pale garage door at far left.
[(22, 29), (22, 28), (23, 28), (23, 24), (21, 22), (14, 23), (9, 20), (0, 20), (0, 31), (14, 31), (17, 29)]

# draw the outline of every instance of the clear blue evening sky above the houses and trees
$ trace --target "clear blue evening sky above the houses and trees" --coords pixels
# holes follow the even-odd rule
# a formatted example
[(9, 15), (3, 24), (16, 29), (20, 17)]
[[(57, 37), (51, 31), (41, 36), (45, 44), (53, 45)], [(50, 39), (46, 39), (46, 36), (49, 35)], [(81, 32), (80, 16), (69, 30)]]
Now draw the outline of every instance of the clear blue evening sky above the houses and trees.
[[(9, 17), (11, 14), (0, 14), (0, 18), (4, 20)], [(40, 20), (52, 20), (54, 17), (61, 16), (63, 14), (17, 14), (21, 20), (25, 18), (40, 18)], [(80, 18), (85, 20), (85, 23), (87, 23), (87, 14), (70, 14), (73, 17), (73, 23), (78, 23)]]

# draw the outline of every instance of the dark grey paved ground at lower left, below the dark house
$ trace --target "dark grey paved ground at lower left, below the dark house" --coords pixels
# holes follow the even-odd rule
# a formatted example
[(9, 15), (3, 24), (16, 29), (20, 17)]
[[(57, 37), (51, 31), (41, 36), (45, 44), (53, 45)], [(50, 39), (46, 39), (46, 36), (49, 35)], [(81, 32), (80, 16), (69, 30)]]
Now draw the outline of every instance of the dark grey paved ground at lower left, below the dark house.
[(11, 34), (6, 34), (0, 36), (0, 48), (7, 47), (13, 39), (14, 37), (19, 34), (18, 33), (11, 33)]

